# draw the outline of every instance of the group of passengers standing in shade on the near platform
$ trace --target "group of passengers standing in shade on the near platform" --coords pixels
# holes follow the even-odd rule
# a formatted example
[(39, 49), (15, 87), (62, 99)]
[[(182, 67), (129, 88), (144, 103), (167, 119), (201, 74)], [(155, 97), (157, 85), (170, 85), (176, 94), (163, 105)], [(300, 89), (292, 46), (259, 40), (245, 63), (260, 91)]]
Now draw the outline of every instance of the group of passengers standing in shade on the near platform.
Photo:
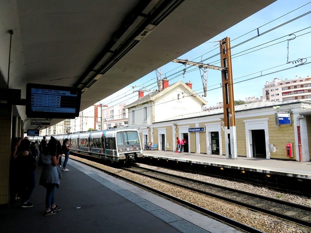
[(23, 140), (16, 138), (15, 147), (12, 150), (12, 192), (15, 194), (15, 201), (21, 202), (22, 208), (34, 206), (29, 199), (35, 188), (35, 163), (38, 159), (38, 165), (42, 165), (39, 185), (46, 188), (44, 215), (49, 216), (61, 210), (55, 204), (54, 189), (59, 187), (62, 178), (59, 167), (61, 167), (63, 154), (65, 154), (63, 171), (69, 171), (66, 166), (71, 144), (68, 142), (69, 140), (65, 139), (62, 146), (58, 140), (51, 136), (47, 143), (44, 136), (40, 144), (36, 141), (31, 145), (28, 137)]

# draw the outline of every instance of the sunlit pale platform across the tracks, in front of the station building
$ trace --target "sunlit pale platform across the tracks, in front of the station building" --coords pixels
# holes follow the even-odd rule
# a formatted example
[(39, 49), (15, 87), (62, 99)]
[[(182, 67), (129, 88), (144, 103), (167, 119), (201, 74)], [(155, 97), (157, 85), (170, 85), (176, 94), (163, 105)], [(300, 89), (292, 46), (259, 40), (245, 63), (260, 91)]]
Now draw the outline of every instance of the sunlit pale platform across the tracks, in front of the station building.
[(160, 158), (179, 162), (197, 163), (202, 165), (227, 167), (245, 171), (256, 171), (267, 174), (282, 176), (295, 176), (298, 178), (311, 179), (311, 161), (297, 162), (265, 158), (226, 159), (224, 155), (197, 154), (197, 153), (174, 153), (173, 151), (144, 150), (146, 158)]

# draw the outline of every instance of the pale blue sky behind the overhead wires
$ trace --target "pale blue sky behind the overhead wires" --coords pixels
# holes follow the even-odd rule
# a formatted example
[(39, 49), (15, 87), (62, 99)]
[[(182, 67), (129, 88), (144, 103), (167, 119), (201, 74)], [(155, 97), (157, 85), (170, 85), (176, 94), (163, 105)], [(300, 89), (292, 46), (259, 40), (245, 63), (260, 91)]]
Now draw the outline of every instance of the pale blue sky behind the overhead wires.
[[(213, 41), (219, 41), (228, 36), (231, 39), (231, 47), (233, 47), (241, 42), (244, 42), (245, 40), (248, 40), (256, 36), (258, 27), (260, 27), (259, 33), (263, 33), (289, 20), (292, 20), (300, 15), (303, 15), (304, 13), (307, 13), (308, 11), (311, 10), (311, 3), (309, 2), (310, 2), (309, 0), (308, 1), (306, 0), (298, 0), (298, 1), (278, 0), (272, 3), (270, 6), (262, 9), (261, 11), (258, 11), (254, 15), (249, 16), (244, 21), (241, 21), (240, 23), (232, 26), (228, 30), (215, 36), (214, 38), (210, 39), (206, 43), (203, 43), (197, 48), (194, 48), (188, 53), (180, 56), (179, 58), (180, 59), (187, 58), (188, 60), (195, 61), (195, 62), (200, 62), (201, 59), (205, 60), (208, 57), (211, 57), (212, 55), (219, 53), (218, 43), (214, 43)], [(307, 3), (309, 4), (304, 7), (301, 7)], [(293, 11), (298, 7), (301, 7), (301, 8), (299, 8), (296, 11)], [(293, 12), (290, 14), (287, 14), (290, 11), (293, 11)], [(278, 20), (275, 20), (276, 18), (282, 15), (285, 15), (285, 14), (287, 15), (281, 17)], [(267, 24), (268, 22), (272, 20), (275, 20), (275, 21)], [(297, 31), (300, 31), (300, 32), (297, 32)], [(311, 14), (303, 16), (293, 22), (290, 22), (284, 26), (281, 26), (275, 30), (272, 30), (271, 32), (268, 32), (249, 42), (239, 45), (236, 48), (232, 48), (231, 54), (233, 55), (232, 56), (232, 66), (233, 66), (232, 70), (233, 70), (234, 82), (239, 82), (239, 81), (246, 80), (249, 78), (257, 77), (261, 75), (260, 71), (262, 71), (262, 75), (264, 75), (264, 74), (268, 74), (274, 71), (278, 71), (278, 70), (282, 70), (282, 69), (295, 66), (295, 64), (293, 65), (292, 63), (286, 64), (287, 62), (287, 39), (294, 37), (294, 36), (287, 36), (287, 35), (291, 33), (295, 33), (297, 37), (289, 41), (289, 61), (294, 61), (299, 58), (310, 57), (310, 58), (307, 58), (307, 62), (311, 62), (311, 46), (310, 46), (311, 33), (308, 33), (308, 32), (311, 32)], [(242, 36), (245, 33), (248, 33), (248, 34)], [(305, 33), (308, 33), (308, 34), (305, 34)], [(305, 34), (305, 35), (302, 35), (302, 34)], [(280, 37), (283, 37), (283, 38), (278, 39)], [(267, 43), (271, 40), (275, 40), (275, 41), (271, 43)], [(284, 42), (281, 42), (281, 41), (284, 41)], [(281, 43), (278, 43), (278, 42), (281, 42)], [(267, 43), (267, 44), (248, 50), (250, 48), (253, 48), (263, 43)], [(278, 44), (272, 45), (274, 43), (278, 43)], [(272, 45), (272, 46), (263, 48), (267, 45)], [(237, 57), (238, 55), (248, 53), (258, 48), (263, 48), (263, 49)], [(248, 50), (248, 51), (244, 53), (240, 53), (244, 50)], [(236, 53), (239, 53), (239, 54), (234, 55)], [(204, 63), (209, 63), (212, 65), (220, 66), (220, 63), (218, 63), (219, 62), (218, 59), (219, 59), (219, 55), (204, 61)], [(275, 66), (279, 66), (279, 67), (270, 69)], [(187, 67), (189, 66), (186, 66), (186, 68)], [(195, 90), (197, 93), (202, 93), (203, 91), (202, 80), (201, 80), (199, 69), (197, 68), (191, 72), (189, 71), (193, 70), (193, 67), (187, 69), (187, 73), (184, 75), (184, 78), (183, 78), (183, 75), (182, 75), (183, 68), (184, 66), (182, 64), (170, 62), (163, 66), (163, 75), (168, 76), (169, 79), (175, 77), (173, 80), (170, 80), (169, 82), (170, 84), (175, 83), (179, 80), (182, 80), (184, 82), (188, 82), (189, 80), (191, 80), (191, 82), (193, 83), (193, 90)], [(264, 84), (266, 83), (266, 81), (272, 81), (274, 78), (293, 79), (295, 78), (296, 75), (298, 77), (311, 76), (310, 68), (311, 68), (311, 64), (307, 64), (307, 65), (298, 66), (298, 67), (295, 67), (293, 69), (289, 69), (286, 71), (281, 71), (275, 74), (266, 75), (266, 76), (258, 77), (252, 80), (234, 84), (234, 99), (245, 100), (245, 98), (252, 97), (252, 96), (260, 98), (262, 96), (262, 88)], [(264, 71), (266, 69), (269, 69), (269, 70)], [(175, 73), (176, 71), (181, 71), (179, 73), (181, 75), (179, 75), (178, 77), (176, 77), (176, 75), (169, 76)], [(258, 73), (255, 73), (255, 72), (258, 72)], [(248, 75), (248, 76), (245, 76), (245, 75)], [(112, 106), (112, 105), (122, 103), (125, 101), (128, 101), (130, 103), (134, 102), (135, 100), (137, 100), (138, 94), (137, 92), (133, 94), (133, 90), (138, 90), (139, 88), (132, 89), (131, 86), (135, 86), (135, 85), (136, 86), (142, 86), (142, 85), (147, 86), (154, 82), (156, 82), (156, 72), (152, 71), (151, 73), (137, 80), (136, 82), (129, 85), (128, 87), (125, 87), (122, 90), (118, 91), (117, 93), (103, 99), (102, 101), (100, 101), (100, 103)], [(207, 107), (216, 106), (218, 102), (222, 102), (221, 88), (211, 90), (216, 87), (220, 87), (220, 82), (221, 82), (220, 71), (209, 70), (208, 81), (207, 81), (207, 90), (208, 90), (207, 97), (204, 97), (204, 99), (208, 101)], [(149, 89), (156, 89), (155, 85), (152, 85), (151, 87), (149, 87)]]

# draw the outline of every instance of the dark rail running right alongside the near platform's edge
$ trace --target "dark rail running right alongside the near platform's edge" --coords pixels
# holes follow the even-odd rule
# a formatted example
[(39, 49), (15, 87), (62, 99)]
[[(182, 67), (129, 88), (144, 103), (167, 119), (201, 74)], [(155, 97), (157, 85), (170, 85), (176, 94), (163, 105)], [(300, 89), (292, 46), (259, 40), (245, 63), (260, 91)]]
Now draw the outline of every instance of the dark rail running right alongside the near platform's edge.
[[(153, 192), (153, 193), (159, 194), (159, 195), (163, 196), (163, 197), (166, 198), (166, 199), (170, 199), (170, 200), (172, 200), (172, 201), (174, 201), (174, 202), (176, 202), (176, 203), (179, 203), (179, 204), (181, 204), (181, 205), (183, 205), (183, 206), (185, 206), (185, 207), (187, 207), (187, 208), (191, 208), (191, 209), (193, 209), (193, 210), (195, 210), (195, 211), (197, 211), (197, 212), (201, 212), (202, 214), (204, 214), (204, 215), (207, 216), (207, 217), (210, 217), (210, 218), (212, 218), (212, 219), (215, 219), (215, 220), (217, 220), (217, 221), (219, 221), (219, 222), (222, 222), (222, 223), (224, 223), (224, 224), (226, 224), (226, 225), (232, 226), (233, 228), (235, 228), (235, 229), (237, 229), (237, 230), (239, 230), (239, 231), (241, 231), (241, 232), (246, 232), (246, 233), (264, 233), (263, 231), (260, 231), (260, 230), (258, 230), (258, 229), (255, 229), (255, 228), (253, 228), (253, 227), (251, 227), (251, 226), (248, 226), (248, 225), (243, 224), (243, 223), (241, 223), (241, 222), (235, 221), (235, 220), (233, 220), (233, 219), (230, 219), (230, 218), (228, 218), (228, 217), (225, 217), (225, 216), (223, 216), (223, 215), (220, 215), (220, 214), (218, 214), (218, 213), (216, 213), (216, 212), (212, 212), (212, 211), (210, 211), (210, 210), (208, 210), (208, 209), (206, 209), (206, 208), (202, 208), (202, 207), (200, 207), (200, 206), (198, 206), (198, 205), (195, 205), (195, 204), (193, 204), (193, 203), (189, 203), (189, 202), (187, 202), (187, 201), (184, 201), (184, 200), (182, 200), (182, 199), (179, 199), (179, 198), (177, 198), (177, 197), (174, 197), (174, 196), (172, 196), (172, 195), (169, 195), (169, 194), (167, 194), (167, 193), (165, 193), (165, 192), (159, 191), (159, 190), (154, 189), (154, 188), (152, 188), (152, 187), (149, 187), (149, 186), (147, 186), (147, 185), (144, 185), (144, 184), (141, 184), (141, 183), (139, 183), (139, 182), (136, 182), (136, 181), (133, 181), (133, 180), (131, 180), (131, 179), (128, 179), (128, 178), (126, 178), (126, 177), (120, 176), (120, 175), (118, 175), (118, 174), (116, 174), (116, 173), (114, 173), (114, 172), (107, 171), (107, 170), (105, 170), (105, 169), (99, 168), (99, 167), (94, 166), (94, 165), (90, 165), (90, 164), (87, 163), (87, 162), (82, 162), (82, 161), (76, 160), (76, 159), (74, 159), (74, 158), (70, 158), (70, 159), (75, 160), (75, 161), (77, 161), (77, 162), (81, 162), (81, 163), (83, 163), (83, 164), (86, 164), (87, 166), (93, 167), (93, 168), (95, 168), (95, 169), (97, 169), (97, 170), (100, 170), (100, 171), (103, 171), (103, 172), (105, 172), (105, 173), (107, 173), (107, 174), (109, 174), (109, 175), (111, 175), (111, 176), (114, 176), (114, 177), (117, 177), (117, 178), (119, 178), (119, 179), (125, 180), (125, 181), (127, 181), (127, 182), (129, 182), (129, 183), (132, 183), (132, 184), (134, 184), (134, 185), (137, 185), (137, 186), (139, 186), (139, 187), (141, 187), (141, 188), (143, 188), (143, 189), (146, 189), (146, 190), (148, 190), (148, 191), (151, 191), (151, 192)], [(130, 170), (127, 169), (127, 168), (121, 168), (121, 169), (130, 171)], [(134, 172), (134, 171), (131, 171), (131, 172)], [(143, 176), (145, 176), (145, 175), (143, 175)]]

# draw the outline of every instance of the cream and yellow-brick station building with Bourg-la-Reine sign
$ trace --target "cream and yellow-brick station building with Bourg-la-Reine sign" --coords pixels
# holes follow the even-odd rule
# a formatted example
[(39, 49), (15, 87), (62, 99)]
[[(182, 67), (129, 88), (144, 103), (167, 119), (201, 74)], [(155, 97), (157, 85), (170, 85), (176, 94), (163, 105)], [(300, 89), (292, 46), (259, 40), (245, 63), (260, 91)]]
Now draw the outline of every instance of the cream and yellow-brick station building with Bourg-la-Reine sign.
[[(132, 112), (129, 114), (129, 123), (132, 123), (130, 126), (139, 130), (142, 144), (151, 141), (157, 144), (158, 150), (175, 151), (176, 137), (179, 137), (187, 140), (184, 152), (225, 155), (223, 109), (200, 110), (198, 106), (202, 105), (204, 100), (202, 101), (202, 98), (200, 99), (195, 94), (193, 94), (194, 98), (178, 98), (176, 93), (184, 93), (185, 91), (180, 90), (180, 88), (185, 88), (184, 86), (180, 81), (167, 88), (166, 95), (171, 98), (165, 99), (171, 100), (169, 106), (162, 100), (161, 107), (158, 105), (156, 109), (153, 106), (157, 98), (152, 100), (147, 97), (125, 106), (129, 108), (129, 112)], [(163, 94), (161, 96), (163, 97)], [(192, 111), (197, 109), (197, 111), (169, 117), (176, 110), (174, 107), (186, 104), (183, 103), (185, 99), (188, 101), (189, 109)], [(144, 106), (149, 106), (150, 111), (146, 111), (147, 108)], [(134, 109), (142, 109), (142, 113)], [(278, 117), (276, 117), (278, 113), (289, 114), (290, 121), (287, 124), (279, 124)], [(238, 156), (310, 161), (310, 101), (262, 101), (237, 105), (235, 106), (235, 120)], [(203, 131), (192, 132), (199, 128), (201, 130), (203, 128)], [(301, 141), (301, 158), (299, 158), (298, 137)]]

